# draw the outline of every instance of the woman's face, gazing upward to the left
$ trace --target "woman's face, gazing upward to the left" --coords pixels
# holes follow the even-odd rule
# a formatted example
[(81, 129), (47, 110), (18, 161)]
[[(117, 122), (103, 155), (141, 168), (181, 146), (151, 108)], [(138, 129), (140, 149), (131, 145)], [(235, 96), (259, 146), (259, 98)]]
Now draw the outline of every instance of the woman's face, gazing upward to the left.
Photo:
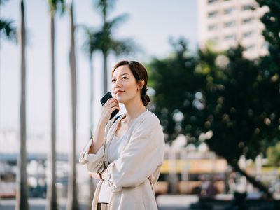
[(127, 104), (133, 99), (140, 99), (141, 84), (138, 84), (128, 65), (119, 66), (112, 76), (113, 93), (118, 102)]

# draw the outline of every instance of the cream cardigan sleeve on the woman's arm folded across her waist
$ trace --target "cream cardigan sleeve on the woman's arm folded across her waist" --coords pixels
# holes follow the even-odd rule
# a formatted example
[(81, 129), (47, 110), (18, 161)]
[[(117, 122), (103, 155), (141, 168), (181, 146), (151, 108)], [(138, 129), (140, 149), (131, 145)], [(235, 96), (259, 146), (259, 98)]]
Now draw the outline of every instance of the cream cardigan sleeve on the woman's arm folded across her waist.
[(165, 139), (155, 116), (137, 125), (120, 158), (107, 168), (106, 181), (113, 192), (138, 186), (162, 165)]

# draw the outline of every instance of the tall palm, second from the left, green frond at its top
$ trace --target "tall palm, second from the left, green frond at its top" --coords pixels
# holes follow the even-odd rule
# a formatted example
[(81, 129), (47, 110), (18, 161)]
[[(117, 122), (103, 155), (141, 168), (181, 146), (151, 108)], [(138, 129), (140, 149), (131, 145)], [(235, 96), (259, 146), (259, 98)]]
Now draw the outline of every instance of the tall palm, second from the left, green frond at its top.
[(48, 183), (48, 210), (57, 210), (56, 183), (56, 111), (55, 111), (55, 14), (59, 8), (64, 12), (64, 0), (49, 0), (50, 8), (50, 64), (51, 64), (51, 144), (50, 144), (50, 180)]

